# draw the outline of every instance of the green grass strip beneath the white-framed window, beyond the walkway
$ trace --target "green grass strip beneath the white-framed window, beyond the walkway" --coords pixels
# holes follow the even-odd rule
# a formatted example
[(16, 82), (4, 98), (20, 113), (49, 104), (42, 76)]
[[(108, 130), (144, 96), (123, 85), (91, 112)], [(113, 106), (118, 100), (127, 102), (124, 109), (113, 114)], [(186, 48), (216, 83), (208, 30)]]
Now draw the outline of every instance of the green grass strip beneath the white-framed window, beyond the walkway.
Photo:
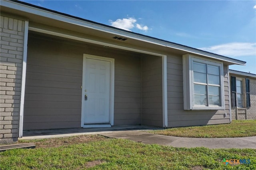
[(194, 138), (230, 138), (256, 136), (256, 120), (232, 121), (230, 124), (168, 128), (148, 131), (168, 136)]

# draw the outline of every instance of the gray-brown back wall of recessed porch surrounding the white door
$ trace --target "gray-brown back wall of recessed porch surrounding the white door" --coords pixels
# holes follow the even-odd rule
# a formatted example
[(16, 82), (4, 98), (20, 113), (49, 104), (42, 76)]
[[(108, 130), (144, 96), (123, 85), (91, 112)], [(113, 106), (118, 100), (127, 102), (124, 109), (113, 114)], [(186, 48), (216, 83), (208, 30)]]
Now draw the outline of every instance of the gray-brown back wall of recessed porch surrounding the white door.
[(115, 58), (114, 125), (141, 123), (140, 56), (32, 34), (24, 130), (80, 127), (83, 53)]

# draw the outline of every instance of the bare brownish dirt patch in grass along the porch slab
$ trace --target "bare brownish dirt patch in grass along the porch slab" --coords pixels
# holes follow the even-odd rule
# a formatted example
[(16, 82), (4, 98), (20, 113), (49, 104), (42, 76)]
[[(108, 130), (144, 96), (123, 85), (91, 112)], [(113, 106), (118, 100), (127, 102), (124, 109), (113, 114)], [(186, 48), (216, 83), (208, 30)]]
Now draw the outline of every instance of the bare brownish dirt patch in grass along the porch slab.
[(65, 146), (70, 144), (96, 142), (99, 140), (108, 140), (108, 138), (101, 135), (80, 135), (80, 136), (48, 138), (48, 139), (40, 139), (40, 140), (19, 140), (18, 143), (33, 142), (36, 145), (36, 148), (49, 148), (49, 147)]

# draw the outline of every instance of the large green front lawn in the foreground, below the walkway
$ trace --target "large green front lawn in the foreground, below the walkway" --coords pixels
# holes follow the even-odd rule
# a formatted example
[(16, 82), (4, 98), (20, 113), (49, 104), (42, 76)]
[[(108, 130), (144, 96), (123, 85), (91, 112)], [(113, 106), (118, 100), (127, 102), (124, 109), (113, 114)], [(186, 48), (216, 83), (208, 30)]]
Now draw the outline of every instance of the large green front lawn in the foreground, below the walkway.
[[(174, 148), (100, 135), (21, 142), (34, 142), (36, 148), (1, 152), (1, 170), (256, 169), (255, 149)], [(224, 165), (223, 158), (250, 159), (250, 164)]]

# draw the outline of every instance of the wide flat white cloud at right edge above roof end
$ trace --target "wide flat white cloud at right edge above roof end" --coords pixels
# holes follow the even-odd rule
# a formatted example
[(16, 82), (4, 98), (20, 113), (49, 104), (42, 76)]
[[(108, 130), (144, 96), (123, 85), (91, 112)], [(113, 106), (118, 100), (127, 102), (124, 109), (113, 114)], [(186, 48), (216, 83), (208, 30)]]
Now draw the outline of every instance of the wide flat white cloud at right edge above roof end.
[(198, 49), (227, 57), (256, 55), (256, 43), (233, 42)]

